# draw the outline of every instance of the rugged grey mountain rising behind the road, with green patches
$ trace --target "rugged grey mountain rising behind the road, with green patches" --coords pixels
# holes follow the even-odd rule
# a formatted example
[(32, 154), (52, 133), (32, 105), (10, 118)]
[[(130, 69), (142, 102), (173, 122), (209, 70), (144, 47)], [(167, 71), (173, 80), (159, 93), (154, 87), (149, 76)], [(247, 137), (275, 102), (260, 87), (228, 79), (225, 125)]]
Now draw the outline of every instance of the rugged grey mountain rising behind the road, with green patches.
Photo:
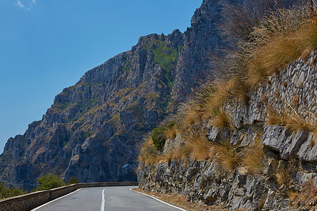
[(218, 8), (218, 1), (204, 1), (185, 33), (141, 37), (63, 89), (42, 120), (8, 139), (0, 181), (32, 186), (47, 173), (82, 182), (136, 180), (135, 146), (204, 79), (206, 58), (223, 45)]

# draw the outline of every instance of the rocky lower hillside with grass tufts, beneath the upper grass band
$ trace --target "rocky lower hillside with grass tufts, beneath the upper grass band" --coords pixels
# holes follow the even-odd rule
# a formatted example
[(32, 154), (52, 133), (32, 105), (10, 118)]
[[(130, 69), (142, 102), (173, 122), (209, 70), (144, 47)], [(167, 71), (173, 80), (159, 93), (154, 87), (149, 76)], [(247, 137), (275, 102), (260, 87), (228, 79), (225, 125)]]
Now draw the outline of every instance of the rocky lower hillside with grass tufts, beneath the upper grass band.
[[(138, 169), (140, 188), (181, 194), (193, 203), (230, 210), (313, 210), (317, 200), (316, 117), (304, 120), (301, 115), (299, 120), (312, 129), (292, 130), (279, 123), (268, 124), (273, 118), (268, 110), (287, 110), (283, 99), (294, 105), (299, 96), (297, 112), (316, 113), (316, 56), (312, 52), (306, 60), (299, 59), (270, 77), (273, 87), (262, 84), (249, 91), (249, 106), (237, 100), (228, 103), (225, 110), (231, 126), (198, 123), (199, 129), (208, 129), (206, 136), (176, 134), (175, 139), (166, 140), (163, 153), (144, 155)], [(290, 113), (288, 118), (297, 115)], [(149, 152), (151, 146), (146, 147)]]

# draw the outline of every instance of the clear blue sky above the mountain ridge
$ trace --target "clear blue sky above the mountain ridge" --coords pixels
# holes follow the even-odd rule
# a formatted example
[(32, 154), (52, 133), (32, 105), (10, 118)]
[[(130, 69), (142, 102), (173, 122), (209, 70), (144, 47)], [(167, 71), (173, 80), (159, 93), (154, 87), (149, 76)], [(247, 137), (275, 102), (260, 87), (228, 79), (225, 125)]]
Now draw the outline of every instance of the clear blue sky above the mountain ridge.
[(140, 36), (184, 32), (202, 0), (0, 0), (0, 153), (63, 88)]

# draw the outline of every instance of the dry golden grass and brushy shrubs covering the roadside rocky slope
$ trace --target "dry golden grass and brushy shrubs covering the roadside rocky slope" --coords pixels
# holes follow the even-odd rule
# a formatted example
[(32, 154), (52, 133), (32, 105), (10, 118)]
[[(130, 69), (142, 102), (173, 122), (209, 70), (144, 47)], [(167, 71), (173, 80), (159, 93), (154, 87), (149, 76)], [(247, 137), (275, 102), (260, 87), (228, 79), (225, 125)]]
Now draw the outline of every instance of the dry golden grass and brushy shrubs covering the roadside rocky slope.
[[(297, 58), (306, 58), (311, 51), (317, 49), (316, 5), (302, 4), (291, 8), (278, 6), (281, 5), (261, 11), (261, 18), (251, 17), (254, 19), (245, 20), (244, 17), (243, 21), (240, 18), (246, 11), (237, 11), (238, 8), (232, 7), (225, 10), (226, 13), (234, 10), (236, 16), (230, 18), (236, 18), (236, 24), (244, 25), (239, 28), (232, 25), (225, 28), (224, 34), (235, 39), (237, 47), (235, 51), (227, 51), (222, 62), (216, 60), (214, 66), (222, 73), (222, 76), (218, 76), (220, 80), (201, 85), (192, 100), (183, 103), (178, 114), (172, 117), (177, 122), (177, 127), (167, 130), (172, 134), (182, 134), (185, 144), (175, 151), (161, 153), (165, 141), (163, 136), (160, 136), (160, 141), (156, 141), (156, 134), (159, 131), (163, 134), (162, 127), (159, 127), (154, 129), (151, 139), (144, 141), (139, 161), (153, 164), (160, 160), (190, 157), (198, 160), (216, 159), (228, 172), (238, 166), (244, 166), (250, 174), (261, 169), (261, 128), (254, 127), (256, 136), (250, 146), (238, 149), (229, 143), (211, 145), (205, 138), (208, 126), (206, 123), (211, 122), (213, 127), (224, 132), (235, 129), (225, 111), (225, 105), (237, 99), (247, 105), (248, 91), (266, 82), (272, 74), (278, 74)], [(264, 98), (262, 103), (270, 107)], [(270, 108), (268, 124), (282, 124), (292, 131), (304, 129), (317, 132), (316, 117), (311, 114), (309, 117), (303, 116), (292, 106), (288, 107), (288, 110), (282, 112)]]

